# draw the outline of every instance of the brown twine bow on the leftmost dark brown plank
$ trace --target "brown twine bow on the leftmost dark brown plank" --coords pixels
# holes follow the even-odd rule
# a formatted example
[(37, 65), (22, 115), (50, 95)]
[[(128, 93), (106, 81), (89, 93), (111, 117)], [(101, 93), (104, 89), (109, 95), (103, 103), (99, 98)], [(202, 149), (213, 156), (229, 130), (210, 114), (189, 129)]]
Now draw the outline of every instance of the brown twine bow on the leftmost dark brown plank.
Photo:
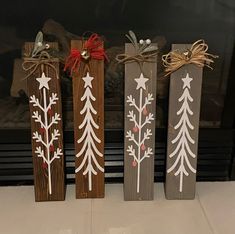
[(38, 69), (39, 66), (44, 66), (44, 65), (51, 67), (56, 74), (56, 78), (59, 79), (57, 69), (52, 64), (52, 62), (58, 62), (58, 59), (51, 58), (49, 53), (46, 51), (42, 51), (37, 58), (32, 58), (32, 57), (25, 58), (22, 64), (22, 68), (26, 72), (29, 71), (29, 73), (23, 80), (27, 79), (32, 74), (34, 74), (34, 72)]

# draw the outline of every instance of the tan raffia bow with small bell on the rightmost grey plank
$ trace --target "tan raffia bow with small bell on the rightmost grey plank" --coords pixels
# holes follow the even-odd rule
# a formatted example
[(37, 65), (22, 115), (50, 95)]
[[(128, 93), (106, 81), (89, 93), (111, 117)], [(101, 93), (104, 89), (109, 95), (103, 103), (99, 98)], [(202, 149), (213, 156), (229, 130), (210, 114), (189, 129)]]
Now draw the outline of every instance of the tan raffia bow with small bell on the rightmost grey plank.
[(214, 63), (212, 58), (218, 58), (219, 56), (207, 53), (208, 45), (204, 40), (200, 39), (194, 42), (190, 49), (180, 52), (179, 50), (173, 50), (168, 54), (162, 56), (163, 66), (165, 67), (166, 75), (170, 75), (172, 72), (178, 70), (186, 64), (194, 64), (198, 67), (208, 67), (210, 63)]

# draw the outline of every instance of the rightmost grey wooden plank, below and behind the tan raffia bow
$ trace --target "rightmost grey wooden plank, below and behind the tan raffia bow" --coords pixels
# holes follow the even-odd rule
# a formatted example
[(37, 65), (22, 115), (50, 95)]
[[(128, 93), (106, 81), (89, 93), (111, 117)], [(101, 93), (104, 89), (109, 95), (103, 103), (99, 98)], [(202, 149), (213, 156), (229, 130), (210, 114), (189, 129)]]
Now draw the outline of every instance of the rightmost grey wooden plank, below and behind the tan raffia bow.
[[(188, 44), (174, 44), (172, 49), (185, 51), (190, 47)], [(167, 199), (195, 197), (201, 86), (202, 68), (195, 65), (185, 65), (171, 74), (165, 184)], [(183, 172), (184, 169), (186, 172)]]

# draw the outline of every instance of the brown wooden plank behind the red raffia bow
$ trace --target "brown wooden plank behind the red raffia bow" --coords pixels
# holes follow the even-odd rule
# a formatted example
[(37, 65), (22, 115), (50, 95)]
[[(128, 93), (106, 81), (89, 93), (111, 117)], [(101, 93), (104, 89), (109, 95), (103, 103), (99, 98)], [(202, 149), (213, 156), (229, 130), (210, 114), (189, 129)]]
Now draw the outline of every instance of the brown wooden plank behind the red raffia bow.
[[(81, 50), (83, 48), (82, 41), (73, 40), (71, 42), (71, 48), (77, 48)], [(88, 66), (86, 66), (88, 65)], [(92, 87), (86, 86), (82, 78), (87, 75), (87, 69), (89, 67), (89, 75), (93, 77), (91, 81)], [(85, 79), (85, 78), (84, 78)], [(96, 100), (91, 100), (91, 105), (96, 114), (92, 113), (91, 118), (94, 120), (95, 124), (99, 126), (96, 129), (94, 126), (91, 128), (94, 131), (96, 137), (100, 142), (95, 141), (94, 136), (88, 138), (88, 134), (82, 139), (84, 131), (88, 129), (89, 123), (86, 122), (84, 126), (80, 127), (84, 121), (87, 120), (86, 114), (88, 113), (87, 101), (88, 98), (81, 100), (85, 92), (89, 90)], [(101, 169), (104, 169), (104, 61), (90, 59), (87, 64), (82, 61), (80, 69), (77, 74), (73, 76), (73, 102), (74, 102), (74, 137), (75, 137), (75, 172), (76, 172), (76, 198), (102, 198), (104, 197), (104, 172), (100, 170), (94, 163), (94, 160), (100, 165)], [(86, 111), (80, 113), (81, 110), (86, 106)], [(87, 109), (88, 108), (88, 109)], [(81, 140), (82, 139), (82, 140)], [(81, 140), (81, 142), (78, 142)], [(91, 142), (94, 143), (91, 146)], [(91, 147), (89, 147), (91, 146)], [(83, 147), (84, 151), (83, 151)], [(100, 152), (100, 155), (95, 152), (94, 147)], [(88, 150), (91, 149), (91, 151)], [(89, 153), (89, 152), (90, 153)], [(89, 155), (86, 157), (86, 153)], [(93, 156), (93, 159), (92, 159)], [(89, 163), (91, 159), (91, 163)], [(84, 163), (83, 163), (84, 162)], [(88, 165), (91, 165), (97, 175), (86, 172)]]

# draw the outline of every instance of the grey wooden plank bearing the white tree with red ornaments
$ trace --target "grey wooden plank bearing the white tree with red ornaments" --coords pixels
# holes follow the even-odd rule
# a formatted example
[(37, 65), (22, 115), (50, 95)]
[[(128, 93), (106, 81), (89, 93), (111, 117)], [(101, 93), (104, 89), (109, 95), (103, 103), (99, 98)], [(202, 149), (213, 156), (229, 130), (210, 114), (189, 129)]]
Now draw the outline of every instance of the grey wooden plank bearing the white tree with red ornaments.
[[(130, 55), (134, 54), (134, 47), (132, 44), (125, 44), (125, 53)], [(144, 63), (143, 76), (148, 80), (145, 82), (145, 86), (138, 88), (137, 81), (135, 79), (139, 79), (141, 77), (139, 65), (137, 63), (125, 64), (125, 200), (153, 199), (157, 63)], [(145, 98), (147, 98), (150, 94), (152, 94), (153, 100), (151, 100), (150, 104), (146, 106), (146, 109), (141, 108), (144, 106)], [(130, 97), (130, 95), (132, 95), (132, 97)], [(135, 108), (135, 106), (131, 105), (132, 102), (129, 102), (130, 99), (128, 96), (135, 99), (135, 104), (138, 108), (143, 109), (143, 111), (140, 111), (141, 114), (139, 114), (139, 111)], [(131, 111), (133, 111), (133, 114), (136, 115), (138, 126), (140, 126), (140, 123), (143, 124), (146, 118), (150, 117), (151, 114), (153, 115), (153, 120), (150, 120), (150, 123), (147, 123), (143, 126), (143, 128), (136, 127), (135, 123), (130, 121), (132, 117), (128, 117)], [(148, 136), (149, 139), (146, 139), (144, 144), (139, 144), (139, 142), (141, 142), (144, 138), (144, 133), (147, 133), (147, 129), (151, 130), (152, 135)], [(131, 140), (132, 137), (134, 137), (138, 145)], [(133, 147), (135, 150), (137, 160), (134, 160), (134, 157), (131, 156), (133, 149), (130, 147)], [(148, 150), (151, 150), (151, 153), (148, 154), (150, 157), (144, 158), (144, 154), (145, 152), (147, 153)], [(141, 159), (143, 159), (143, 161), (138, 163), (138, 160)]]

